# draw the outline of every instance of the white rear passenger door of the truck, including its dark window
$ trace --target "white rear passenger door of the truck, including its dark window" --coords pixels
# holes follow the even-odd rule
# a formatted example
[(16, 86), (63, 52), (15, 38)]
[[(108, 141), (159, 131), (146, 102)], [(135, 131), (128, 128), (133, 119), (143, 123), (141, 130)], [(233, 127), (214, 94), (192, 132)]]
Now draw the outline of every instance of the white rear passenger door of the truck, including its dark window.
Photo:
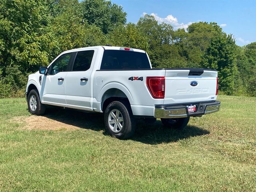
[(92, 109), (92, 68), (97, 49), (76, 52), (72, 71), (66, 76), (66, 103), (69, 108)]

